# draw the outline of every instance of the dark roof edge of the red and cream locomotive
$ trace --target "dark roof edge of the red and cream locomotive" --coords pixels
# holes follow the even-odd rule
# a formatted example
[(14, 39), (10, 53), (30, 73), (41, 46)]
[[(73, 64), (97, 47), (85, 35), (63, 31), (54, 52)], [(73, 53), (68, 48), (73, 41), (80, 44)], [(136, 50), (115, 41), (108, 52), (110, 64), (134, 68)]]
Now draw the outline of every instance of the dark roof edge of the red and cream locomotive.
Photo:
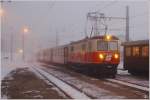
[[(106, 38), (105, 35), (94, 36), (94, 37), (91, 37), (91, 38), (86, 37), (86, 38), (84, 38), (84, 39), (82, 39), (82, 40), (73, 41), (73, 42), (71, 42), (71, 44), (74, 44), (74, 43), (80, 43), (80, 42), (85, 42), (85, 41), (87, 41), (87, 40), (93, 40), (93, 39), (105, 39), (105, 38)], [(119, 40), (119, 38), (117, 38), (116, 36), (113, 36), (113, 35), (111, 36), (111, 39), (112, 39), (112, 40)]]

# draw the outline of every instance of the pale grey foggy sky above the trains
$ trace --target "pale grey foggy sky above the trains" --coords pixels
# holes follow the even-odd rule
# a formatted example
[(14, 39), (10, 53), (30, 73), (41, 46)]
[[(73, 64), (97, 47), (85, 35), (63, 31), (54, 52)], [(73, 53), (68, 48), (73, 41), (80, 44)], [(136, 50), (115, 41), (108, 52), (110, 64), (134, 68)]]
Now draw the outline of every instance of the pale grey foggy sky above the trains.
[[(26, 49), (53, 47), (56, 33), (59, 45), (85, 37), (86, 14), (100, 11), (106, 16), (125, 17), (125, 7), (130, 9), (130, 38), (148, 39), (148, 3), (145, 1), (13, 1), (4, 2), (2, 8), (2, 51), (9, 51), (10, 34), (14, 36), (14, 51), (21, 48), (22, 29), (25, 34)], [(112, 3), (112, 4), (111, 4)], [(125, 35), (125, 22), (113, 21), (109, 27), (122, 31), (109, 31), (109, 34)], [(88, 29), (90, 30), (90, 29)], [(90, 31), (88, 31), (90, 34)]]

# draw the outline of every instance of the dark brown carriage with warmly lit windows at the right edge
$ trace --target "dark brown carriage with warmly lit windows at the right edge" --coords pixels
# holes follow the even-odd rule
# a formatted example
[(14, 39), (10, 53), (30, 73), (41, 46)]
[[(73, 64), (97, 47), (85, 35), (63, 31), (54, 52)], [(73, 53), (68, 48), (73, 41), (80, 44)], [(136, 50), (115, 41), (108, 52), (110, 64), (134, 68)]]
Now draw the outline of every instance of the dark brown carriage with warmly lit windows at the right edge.
[(149, 76), (149, 40), (124, 42), (124, 69)]

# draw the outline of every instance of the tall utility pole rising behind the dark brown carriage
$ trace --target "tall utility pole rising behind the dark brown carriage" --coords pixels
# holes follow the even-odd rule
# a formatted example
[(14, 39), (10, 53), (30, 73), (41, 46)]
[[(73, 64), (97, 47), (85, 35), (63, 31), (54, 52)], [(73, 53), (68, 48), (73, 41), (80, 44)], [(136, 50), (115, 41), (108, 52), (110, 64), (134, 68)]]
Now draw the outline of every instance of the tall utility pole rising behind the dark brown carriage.
[(126, 6), (126, 41), (129, 41), (129, 6)]

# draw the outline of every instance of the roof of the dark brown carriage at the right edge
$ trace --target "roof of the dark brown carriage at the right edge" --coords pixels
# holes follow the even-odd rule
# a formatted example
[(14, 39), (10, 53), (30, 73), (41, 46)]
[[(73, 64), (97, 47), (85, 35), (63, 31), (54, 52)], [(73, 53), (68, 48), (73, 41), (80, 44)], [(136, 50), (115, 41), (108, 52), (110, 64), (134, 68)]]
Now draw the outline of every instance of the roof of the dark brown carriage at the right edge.
[(138, 41), (129, 41), (129, 42), (123, 42), (123, 46), (129, 46), (129, 45), (145, 45), (149, 44), (149, 40), (138, 40)]

